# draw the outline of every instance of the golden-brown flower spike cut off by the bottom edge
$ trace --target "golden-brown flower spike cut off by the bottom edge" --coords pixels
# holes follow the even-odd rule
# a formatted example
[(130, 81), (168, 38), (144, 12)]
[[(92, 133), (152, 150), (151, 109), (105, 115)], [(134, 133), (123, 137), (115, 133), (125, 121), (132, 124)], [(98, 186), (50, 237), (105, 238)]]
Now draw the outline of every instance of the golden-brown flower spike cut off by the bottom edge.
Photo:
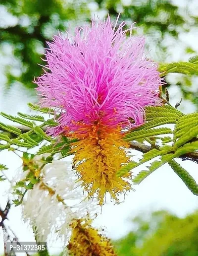
[(71, 256), (116, 256), (110, 240), (91, 226), (92, 220), (78, 219), (71, 224), (72, 234), (67, 246)]

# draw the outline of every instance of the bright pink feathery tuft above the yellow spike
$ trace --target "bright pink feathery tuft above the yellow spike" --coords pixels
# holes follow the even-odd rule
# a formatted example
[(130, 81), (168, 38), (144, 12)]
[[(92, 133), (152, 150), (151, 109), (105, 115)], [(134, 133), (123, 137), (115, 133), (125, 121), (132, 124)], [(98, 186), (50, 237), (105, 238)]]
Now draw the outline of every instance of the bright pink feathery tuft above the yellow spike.
[(48, 43), (47, 71), (35, 82), (40, 105), (61, 113), (52, 135), (65, 127), (77, 130), (79, 121), (136, 127), (144, 123), (144, 107), (160, 104), (161, 78), (157, 64), (144, 54), (145, 38), (127, 37), (124, 26), (116, 29), (108, 17)]

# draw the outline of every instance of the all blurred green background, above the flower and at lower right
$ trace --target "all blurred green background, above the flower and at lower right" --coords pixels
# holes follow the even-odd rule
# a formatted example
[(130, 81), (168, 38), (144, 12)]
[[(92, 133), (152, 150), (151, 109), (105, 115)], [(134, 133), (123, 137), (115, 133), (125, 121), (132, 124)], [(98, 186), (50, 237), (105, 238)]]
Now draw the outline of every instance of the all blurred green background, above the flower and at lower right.
[[(125, 20), (126, 28), (137, 22), (133, 33), (146, 36), (147, 54), (156, 62), (188, 61), (198, 54), (197, 0), (0, 0), (1, 94), (17, 86), (36, 101), (32, 81), (42, 73), (46, 40), (108, 13), (112, 19), (121, 13), (119, 22)], [(198, 110), (196, 76), (169, 74), (165, 81), (170, 101), (182, 97), (182, 111)], [(119, 256), (198, 255), (197, 212), (183, 219), (154, 212), (147, 219), (135, 218), (133, 225), (133, 231), (115, 241)]]

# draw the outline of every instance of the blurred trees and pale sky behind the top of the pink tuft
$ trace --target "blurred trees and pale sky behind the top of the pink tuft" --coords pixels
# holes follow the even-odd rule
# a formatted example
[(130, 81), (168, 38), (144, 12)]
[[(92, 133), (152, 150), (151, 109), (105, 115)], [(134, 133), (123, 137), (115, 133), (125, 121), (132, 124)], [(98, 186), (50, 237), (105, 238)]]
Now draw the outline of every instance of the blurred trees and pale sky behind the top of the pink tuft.
[[(42, 72), (46, 40), (58, 30), (80, 26), (91, 17), (118, 13), (134, 34), (147, 37), (148, 56), (157, 62), (187, 61), (198, 52), (197, 0), (0, 0), (0, 69), (5, 88), (16, 82), (34, 88)], [(6, 57), (11, 58), (4, 61)], [(7, 59), (6, 59), (7, 60)], [(198, 108), (194, 77), (167, 76), (167, 86), (179, 85), (180, 96)]]

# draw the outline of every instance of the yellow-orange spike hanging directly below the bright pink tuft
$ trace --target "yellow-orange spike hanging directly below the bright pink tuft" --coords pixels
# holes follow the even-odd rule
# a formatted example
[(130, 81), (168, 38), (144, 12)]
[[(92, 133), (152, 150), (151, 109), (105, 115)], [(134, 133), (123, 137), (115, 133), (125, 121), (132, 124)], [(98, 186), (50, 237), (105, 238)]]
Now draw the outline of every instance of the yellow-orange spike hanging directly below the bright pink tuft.
[(122, 140), (120, 128), (105, 127), (96, 122), (92, 126), (81, 124), (77, 131), (67, 135), (80, 139), (72, 144), (71, 150), (75, 154), (73, 161), (79, 180), (88, 192), (88, 197), (96, 193), (102, 205), (106, 192), (109, 192), (111, 198), (119, 203), (119, 193), (131, 189), (127, 181), (131, 179), (131, 174), (116, 176), (116, 172), (129, 161), (125, 152), (128, 143)]

